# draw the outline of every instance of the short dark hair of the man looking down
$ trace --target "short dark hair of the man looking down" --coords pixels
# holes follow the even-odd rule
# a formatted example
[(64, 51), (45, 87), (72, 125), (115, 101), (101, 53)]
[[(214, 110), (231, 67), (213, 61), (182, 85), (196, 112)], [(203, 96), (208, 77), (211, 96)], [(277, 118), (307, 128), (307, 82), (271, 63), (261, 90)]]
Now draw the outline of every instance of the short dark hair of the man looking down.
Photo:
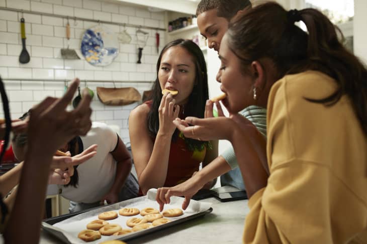
[(251, 7), (249, 0), (202, 0), (198, 4), (196, 15), (216, 9), (217, 16), (223, 17), (229, 22), (238, 11), (247, 7)]

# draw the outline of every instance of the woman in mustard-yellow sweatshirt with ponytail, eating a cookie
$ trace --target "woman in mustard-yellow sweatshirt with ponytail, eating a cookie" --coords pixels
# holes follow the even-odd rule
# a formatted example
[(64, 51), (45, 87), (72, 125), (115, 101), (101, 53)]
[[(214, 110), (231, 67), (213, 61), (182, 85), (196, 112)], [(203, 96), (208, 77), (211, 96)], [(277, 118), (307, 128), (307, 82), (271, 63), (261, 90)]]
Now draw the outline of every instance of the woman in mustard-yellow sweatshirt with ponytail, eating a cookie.
[[(219, 57), (231, 116), (174, 123), (232, 143), (250, 197), (243, 242), (348, 243), (365, 231), (367, 70), (333, 24), (314, 9), (259, 5), (230, 25)], [(237, 114), (251, 104), (267, 108), (266, 146)], [(161, 204), (185, 195), (158, 193)]]

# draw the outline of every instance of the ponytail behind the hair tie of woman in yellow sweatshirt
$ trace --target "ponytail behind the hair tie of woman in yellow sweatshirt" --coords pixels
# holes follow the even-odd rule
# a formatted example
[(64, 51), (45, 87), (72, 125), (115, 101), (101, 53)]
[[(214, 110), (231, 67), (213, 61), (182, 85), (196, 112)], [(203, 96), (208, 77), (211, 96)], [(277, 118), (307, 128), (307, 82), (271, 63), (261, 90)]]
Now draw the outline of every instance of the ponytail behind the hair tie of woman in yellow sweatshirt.
[(364, 133), (367, 135), (367, 70), (338, 40), (339, 28), (315, 9), (300, 11), (308, 30), (308, 59), (310, 68), (319, 70), (337, 83), (337, 90), (321, 100), (309, 101), (333, 105), (346, 94)]

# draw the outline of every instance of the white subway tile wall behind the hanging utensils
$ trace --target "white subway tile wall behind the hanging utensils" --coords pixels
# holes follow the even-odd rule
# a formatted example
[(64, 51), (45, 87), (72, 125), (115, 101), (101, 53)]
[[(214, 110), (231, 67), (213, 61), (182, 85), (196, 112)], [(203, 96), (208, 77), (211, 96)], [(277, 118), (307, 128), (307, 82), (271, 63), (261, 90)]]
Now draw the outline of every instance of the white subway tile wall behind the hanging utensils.
[[(79, 77), (80, 88), (88, 87), (95, 92), (91, 103), (94, 110), (91, 119), (111, 125), (118, 125), (123, 141), (129, 142), (128, 118), (130, 111), (139, 103), (126, 106), (107, 106), (97, 97), (97, 87), (135, 87), (140, 94), (149, 90), (156, 79), (155, 64), (158, 54), (155, 47), (155, 30), (142, 29), (149, 33), (147, 46), (143, 50), (142, 64), (136, 64), (136, 28), (106, 25), (115, 33), (126, 31), (131, 35), (130, 44), (120, 44), (120, 53), (115, 61), (106, 67), (95, 67), (84, 59), (64, 60), (60, 50), (79, 49), (80, 41), (86, 28), (97, 25), (96, 22), (79, 21), (72, 16), (82, 18), (146, 25), (153, 28), (165, 28), (164, 12), (150, 13), (146, 8), (125, 6), (123, 4), (102, 3), (94, 0), (0, 0), (0, 7), (31, 10), (50, 14), (70, 16), (70, 42), (65, 34), (66, 19), (57, 17), (23, 14), (26, 23), (27, 50), (31, 56), (28, 64), (19, 63), (22, 50), (20, 37), (20, 18), (22, 13), (0, 10), (0, 76), (3, 78), (10, 100), (13, 118), (20, 117), (33, 105), (47, 96), (62, 96), (65, 82), (24, 81), (22, 79), (66, 79)], [(160, 34), (160, 47), (164, 46), (164, 32)], [(7, 81), (7, 79), (19, 79)], [(95, 83), (83, 80), (108, 80), (111, 82)], [(115, 82), (112, 81), (124, 81)], [(67, 84), (67, 83), (66, 83)], [(76, 96), (76, 94), (75, 94)], [(69, 108), (70, 109), (70, 108)], [(3, 117), (0, 111), (0, 117)]]

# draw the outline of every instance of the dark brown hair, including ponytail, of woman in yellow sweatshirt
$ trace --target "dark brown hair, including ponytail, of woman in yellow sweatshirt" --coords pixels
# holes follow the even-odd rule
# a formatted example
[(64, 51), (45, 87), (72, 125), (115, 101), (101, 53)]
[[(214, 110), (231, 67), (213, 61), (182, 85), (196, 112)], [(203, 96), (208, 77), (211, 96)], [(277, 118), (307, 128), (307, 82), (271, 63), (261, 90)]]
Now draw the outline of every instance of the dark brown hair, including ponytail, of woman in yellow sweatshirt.
[[(294, 23), (303, 21), (308, 34)], [(266, 3), (239, 16), (227, 32), (231, 51), (241, 60), (243, 70), (260, 58), (270, 58), (280, 79), (307, 70), (332, 77), (337, 90), (312, 100), (331, 106), (347, 95), (367, 134), (367, 70), (338, 40), (340, 30), (315, 9), (287, 12), (277, 3)], [(340, 33), (341, 34), (341, 33)]]

